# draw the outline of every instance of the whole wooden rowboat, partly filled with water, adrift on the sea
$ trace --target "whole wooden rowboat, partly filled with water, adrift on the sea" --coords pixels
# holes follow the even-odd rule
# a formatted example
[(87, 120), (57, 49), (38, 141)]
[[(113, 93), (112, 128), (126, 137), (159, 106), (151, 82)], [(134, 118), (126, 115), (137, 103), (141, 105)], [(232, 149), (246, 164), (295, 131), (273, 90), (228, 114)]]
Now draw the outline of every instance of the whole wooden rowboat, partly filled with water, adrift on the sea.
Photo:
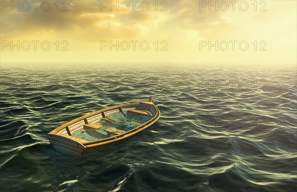
[(49, 143), (66, 154), (77, 155), (118, 144), (146, 130), (160, 118), (160, 110), (148, 101), (100, 109), (69, 121), (48, 135)]

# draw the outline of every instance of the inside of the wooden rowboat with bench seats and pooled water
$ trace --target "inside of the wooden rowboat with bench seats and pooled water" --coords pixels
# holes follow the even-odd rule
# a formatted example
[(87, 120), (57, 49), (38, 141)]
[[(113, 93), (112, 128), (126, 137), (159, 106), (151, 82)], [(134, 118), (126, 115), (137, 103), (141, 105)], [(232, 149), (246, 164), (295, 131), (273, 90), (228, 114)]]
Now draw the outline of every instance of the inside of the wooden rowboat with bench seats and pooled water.
[(111, 107), (106, 111), (78, 119), (77, 122), (53, 134), (70, 136), (85, 142), (117, 138), (151, 122), (157, 116), (158, 110), (151, 101)]

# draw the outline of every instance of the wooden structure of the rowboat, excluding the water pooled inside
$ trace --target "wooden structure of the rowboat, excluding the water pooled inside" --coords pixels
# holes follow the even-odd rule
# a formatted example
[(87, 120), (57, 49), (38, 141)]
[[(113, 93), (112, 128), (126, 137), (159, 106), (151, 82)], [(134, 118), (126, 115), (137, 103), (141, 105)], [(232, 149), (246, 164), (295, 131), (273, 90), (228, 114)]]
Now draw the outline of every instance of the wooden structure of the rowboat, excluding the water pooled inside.
[[(135, 126), (137, 126), (129, 131), (122, 131), (115, 128), (110, 128), (110, 130), (108, 128), (98, 128), (100, 127), (100, 124), (94, 123), (98, 121), (101, 122), (101, 120), (115, 122), (114, 118), (109, 116), (119, 112), (123, 114), (131, 112), (145, 116), (147, 115), (149, 120), (142, 124), (138, 122), (127, 121), (130, 124), (135, 123)], [(56, 150), (66, 154), (77, 155), (90, 150), (126, 141), (136, 134), (146, 130), (159, 118), (160, 110), (152, 103), (152, 97), (150, 97), (148, 102), (120, 104), (94, 111), (57, 127), (56, 129), (52, 130), (47, 135), (47, 137), (49, 139), (49, 143), (52, 144)], [(119, 121), (121, 120), (119, 119)], [(95, 141), (87, 141), (72, 136), (73, 133), (83, 130), (84, 128), (94, 128), (95, 130), (102, 129), (106, 131), (106, 133), (111, 133), (111, 136)]]

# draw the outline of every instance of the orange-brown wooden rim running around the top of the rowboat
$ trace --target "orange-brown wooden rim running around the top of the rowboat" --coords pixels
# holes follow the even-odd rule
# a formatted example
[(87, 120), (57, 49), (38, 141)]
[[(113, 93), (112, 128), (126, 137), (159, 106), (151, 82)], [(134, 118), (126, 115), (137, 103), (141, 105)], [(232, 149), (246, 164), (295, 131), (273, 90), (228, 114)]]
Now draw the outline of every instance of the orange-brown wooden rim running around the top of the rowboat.
[[(132, 102), (132, 103), (119, 104), (119, 105), (114, 105), (114, 106), (110, 106), (110, 107), (107, 107), (107, 108), (99, 109), (97, 111), (93, 111), (91, 113), (88, 113), (88, 114), (83, 115), (81, 117), (78, 117), (76, 119), (73, 119), (73, 120), (71, 120), (69, 122), (66, 122), (63, 125), (60, 125), (59, 127), (55, 128), (54, 130), (49, 132), (49, 134), (57, 135), (57, 133), (59, 131), (61, 131), (62, 129), (65, 129), (66, 127), (68, 127), (68, 126), (70, 126), (70, 125), (72, 125), (74, 123), (77, 123), (77, 122), (79, 122), (79, 121), (81, 121), (83, 119), (86, 119), (88, 117), (91, 117), (91, 116), (94, 116), (94, 115), (97, 115), (99, 113), (109, 111), (109, 110), (112, 110), (112, 109), (115, 109), (115, 108), (120, 108), (120, 107), (123, 107), (123, 106), (133, 106), (133, 105), (143, 105), (143, 103), (142, 102)], [(140, 125), (140, 126), (138, 126), (136, 128), (133, 128), (133, 129), (131, 129), (131, 130), (129, 130), (129, 131), (123, 133), (123, 134), (112, 136), (112, 137), (109, 137), (109, 138), (99, 139), (99, 140), (95, 140), (95, 141), (87, 141), (87, 140), (80, 139), (81, 144), (87, 146), (87, 145), (90, 145), (90, 144), (99, 144), (99, 143), (102, 143), (102, 142), (112, 143), (112, 141), (118, 140), (118, 139), (123, 139), (124, 136), (129, 135), (129, 134), (131, 134), (131, 133), (133, 133), (133, 132), (135, 132), (137, 130), (143, 129), (145, 127), (149, 127), (151, 124), (155, 123), (160, 117), (160, 110), (158, 109), (158, 107), (155, 104), (153, 104), (152, 106), (154, 106), (154, 108), (155, 108), (155, 112), (156, 112), (155, 115), (151, 119), (149, 119), (147, 122), (143, 123), (142, 125)], [(134, 135), (134, 134), (132, 134), (132, 135)], [(63, 136), (63, 135), (60, 135), (60, 136)], [(74, 140), (74, 141), (76, 141), (76, 139), (79, 139), (79, 138), (69, 136), (69, 135), (65, 135), (65, 136), (67, 138), (69, 138), (69, 139)], [(63, 136), (63, 137), (65, 137), (65, 136)]]

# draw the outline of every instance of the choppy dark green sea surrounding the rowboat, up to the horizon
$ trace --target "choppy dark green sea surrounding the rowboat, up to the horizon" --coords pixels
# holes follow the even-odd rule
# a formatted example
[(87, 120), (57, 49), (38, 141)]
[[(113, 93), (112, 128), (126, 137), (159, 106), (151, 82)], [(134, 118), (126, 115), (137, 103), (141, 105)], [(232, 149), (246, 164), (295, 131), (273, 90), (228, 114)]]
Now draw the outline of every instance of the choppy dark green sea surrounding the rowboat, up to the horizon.
[[(296, 66), (22, 66), (1, 64), (3, 192), (297, 188)], [(126, 142), (68, 156), (46, 138), (76, 117), (149, 96), (161, 118)]]

